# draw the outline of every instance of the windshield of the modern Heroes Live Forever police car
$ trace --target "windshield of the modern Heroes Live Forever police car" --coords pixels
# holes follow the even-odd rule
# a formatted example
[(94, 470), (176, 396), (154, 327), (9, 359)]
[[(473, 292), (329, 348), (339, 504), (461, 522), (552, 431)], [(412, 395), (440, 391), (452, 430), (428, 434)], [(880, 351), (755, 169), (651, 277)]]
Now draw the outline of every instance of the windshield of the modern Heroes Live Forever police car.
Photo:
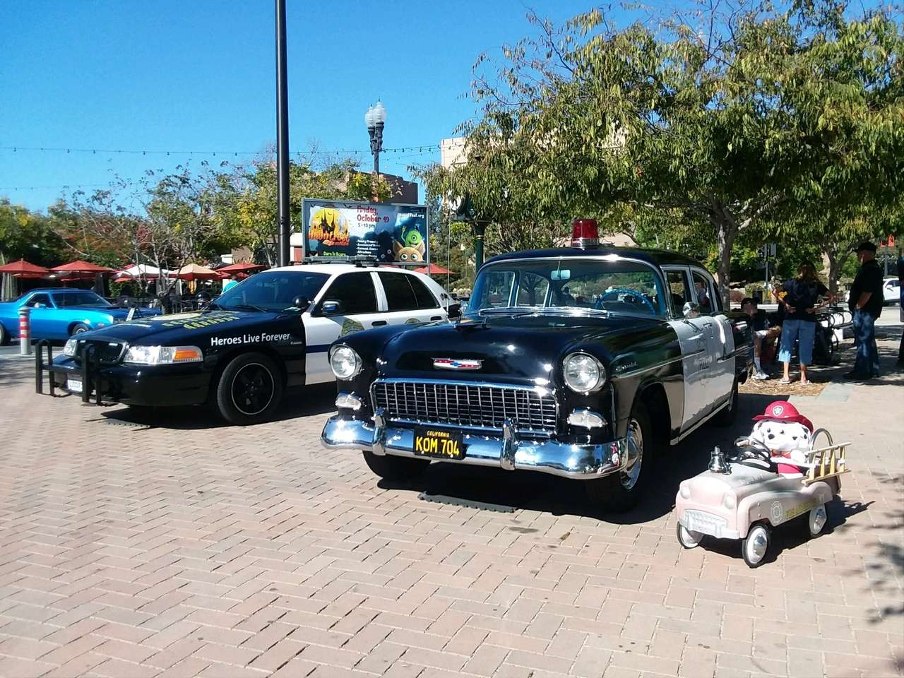
[(285, 311), (296, 307), (297, 297), (313, 299), (327, 278), (301, 270), (263, 271), (230, 287), (215, 304), (227, 310)]

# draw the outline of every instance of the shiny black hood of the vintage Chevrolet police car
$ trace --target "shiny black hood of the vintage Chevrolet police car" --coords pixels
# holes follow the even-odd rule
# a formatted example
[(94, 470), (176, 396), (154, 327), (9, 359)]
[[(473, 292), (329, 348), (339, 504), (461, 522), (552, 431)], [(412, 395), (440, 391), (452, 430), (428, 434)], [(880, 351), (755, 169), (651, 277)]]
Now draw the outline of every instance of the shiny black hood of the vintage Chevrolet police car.
[[(386, 376), (481, 381), (552, 380), (567, 353), (586, 351), (607, 365), (666, 325), (636, 316), (468, 316), (458, 325), (413, 328), (393, 336), (381, 354)], [(439, 362), (436, 362), (439, 359)], [(480, 361), (479, 367), (470, 361)]]

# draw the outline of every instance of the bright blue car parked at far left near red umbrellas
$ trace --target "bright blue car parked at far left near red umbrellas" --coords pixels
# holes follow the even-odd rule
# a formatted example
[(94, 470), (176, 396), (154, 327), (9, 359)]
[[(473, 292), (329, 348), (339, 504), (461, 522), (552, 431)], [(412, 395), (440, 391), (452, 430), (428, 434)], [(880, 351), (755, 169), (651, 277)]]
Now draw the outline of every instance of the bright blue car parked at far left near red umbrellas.
[[(33, 339), (68, 339), (72, 334), (126, 320), (129, 309), (113, 306), (85, 289), (42, 288), (0, 303), (0, 344), (19, 336), (19, 309), (30, 306)], [(159, 308), (137, 308), (134, 317), (160, 315)]]

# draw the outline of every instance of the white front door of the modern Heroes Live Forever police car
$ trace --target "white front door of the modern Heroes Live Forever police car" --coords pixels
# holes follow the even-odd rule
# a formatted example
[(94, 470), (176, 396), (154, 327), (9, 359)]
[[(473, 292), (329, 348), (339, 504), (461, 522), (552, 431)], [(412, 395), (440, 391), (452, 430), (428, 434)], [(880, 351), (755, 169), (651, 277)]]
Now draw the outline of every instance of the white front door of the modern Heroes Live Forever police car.
[[(315, 306), (302, 317), (305, 323), (306, 383), (333, 381), (327, 351), (344, 334), (382, 325), (371, 271), (342, 273), (327, 284)], [(335, 303), (338, 306), (332, 307)]]

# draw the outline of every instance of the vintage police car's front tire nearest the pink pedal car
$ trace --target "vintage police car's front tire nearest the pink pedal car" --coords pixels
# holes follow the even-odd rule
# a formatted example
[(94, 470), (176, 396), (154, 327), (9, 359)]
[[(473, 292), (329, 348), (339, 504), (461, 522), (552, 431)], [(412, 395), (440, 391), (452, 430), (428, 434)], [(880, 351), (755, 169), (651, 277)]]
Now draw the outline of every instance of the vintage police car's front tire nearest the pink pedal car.
[[(636, 402), (634, 410), (631, 410), (627, 438), (628, 466), (625, 470), (595, 480), (580, 481), (589, 501), (612, 513), (625, 513), (634, 508), (645, 494), (652, 475), (656, 444), (653, 424), (643, 402)], [(634, 454), (638, 443), (639, 457)]]

